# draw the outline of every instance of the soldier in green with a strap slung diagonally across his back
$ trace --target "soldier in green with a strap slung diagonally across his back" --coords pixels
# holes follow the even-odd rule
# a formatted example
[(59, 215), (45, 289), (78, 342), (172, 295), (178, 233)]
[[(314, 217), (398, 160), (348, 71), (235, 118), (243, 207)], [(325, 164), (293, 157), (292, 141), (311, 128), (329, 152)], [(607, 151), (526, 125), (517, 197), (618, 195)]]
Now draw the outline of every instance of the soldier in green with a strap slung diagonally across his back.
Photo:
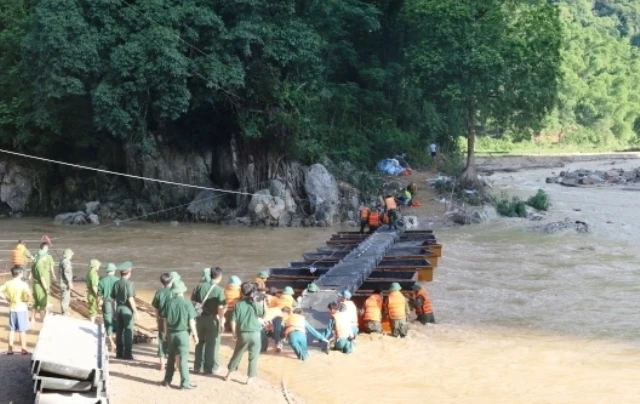
[(196, 319), (200, 342), (196, 345), (194, 372), (200, 372), (203, 364), (205, 374), (213, 374), (220, 368), (220, 335), (224, 330), (224, 311), (227, 306), (224, 290), (218, 285), (221, 280), (221, 268), (206, 268), (203, 282), (191, 295), (191, 301), (202, 305), (202, 313)]

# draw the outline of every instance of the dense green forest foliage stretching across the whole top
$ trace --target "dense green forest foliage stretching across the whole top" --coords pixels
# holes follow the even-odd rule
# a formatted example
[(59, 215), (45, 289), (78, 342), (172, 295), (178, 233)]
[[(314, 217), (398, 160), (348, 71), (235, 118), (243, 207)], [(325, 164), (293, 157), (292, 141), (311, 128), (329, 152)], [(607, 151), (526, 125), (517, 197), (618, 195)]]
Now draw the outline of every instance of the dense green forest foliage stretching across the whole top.
[(633, 0), (0, 0), (0, 144), (357, 165), (476, 134), (628, 145), (638, 46)]

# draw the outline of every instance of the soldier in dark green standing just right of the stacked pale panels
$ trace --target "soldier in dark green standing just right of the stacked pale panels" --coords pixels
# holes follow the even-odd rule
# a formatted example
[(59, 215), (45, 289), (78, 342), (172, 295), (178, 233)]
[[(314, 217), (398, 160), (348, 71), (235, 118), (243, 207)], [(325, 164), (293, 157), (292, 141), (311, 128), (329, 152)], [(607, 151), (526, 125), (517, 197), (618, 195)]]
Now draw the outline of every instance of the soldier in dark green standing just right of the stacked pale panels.
[(136, 291), (131, 278), (133, 264), (126, 261), (118, 265), (120, 280), (113, 285), (111, 299), (116, 303), (116, 358), (133, 360), (133, 327), (138, 310), (136, 308)]

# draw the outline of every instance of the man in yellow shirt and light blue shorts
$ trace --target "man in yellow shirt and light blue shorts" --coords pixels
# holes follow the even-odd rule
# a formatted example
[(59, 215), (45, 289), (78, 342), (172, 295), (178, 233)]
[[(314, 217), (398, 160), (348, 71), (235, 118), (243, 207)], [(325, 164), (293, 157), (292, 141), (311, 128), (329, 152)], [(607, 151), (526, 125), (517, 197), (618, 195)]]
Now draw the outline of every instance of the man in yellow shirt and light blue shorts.
[(15, 332), (20, 336), (22, 354), (29, 355), (27, 351), (27, 331), (29, 331), (29, 308), (27, 304), (31, 300), (29, 285), (22, 280), (24, 269), (20, 266), (11, 268), (13, 279), (0, 286), (0, 296), (9, 302), (9, 350), (8, 355), (13, 355), (13, 342)]

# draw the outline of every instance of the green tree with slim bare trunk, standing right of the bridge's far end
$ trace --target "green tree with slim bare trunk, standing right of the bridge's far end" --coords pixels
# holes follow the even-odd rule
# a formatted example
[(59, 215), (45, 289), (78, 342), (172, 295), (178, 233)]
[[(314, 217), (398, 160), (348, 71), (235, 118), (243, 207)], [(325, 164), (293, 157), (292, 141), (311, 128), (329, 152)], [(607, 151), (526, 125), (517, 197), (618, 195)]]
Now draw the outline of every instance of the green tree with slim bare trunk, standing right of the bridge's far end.
[(414, 79), (465, 122), (462, 178), (475, 182), (479, 125), (536, 130), (555, 106), (558, 11), (543, 1), (408, 0), (405, 17)]

